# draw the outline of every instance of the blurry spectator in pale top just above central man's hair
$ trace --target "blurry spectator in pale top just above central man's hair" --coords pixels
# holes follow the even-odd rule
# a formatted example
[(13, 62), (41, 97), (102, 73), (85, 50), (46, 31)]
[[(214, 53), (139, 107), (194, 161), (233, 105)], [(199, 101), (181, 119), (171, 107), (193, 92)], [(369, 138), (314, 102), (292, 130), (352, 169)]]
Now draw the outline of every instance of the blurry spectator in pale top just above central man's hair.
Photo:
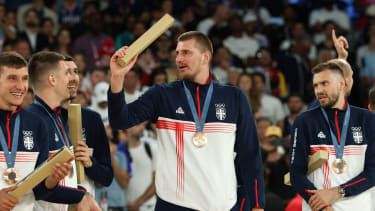
[(214, 25), (227, 25), (227, 21), (230, 16), (230, 9), (226, 5), (220, 4), (216, 7), (215, 12), (212, 16), (207, 17), (200, 21), (197, 26), (197, 31), (202, 32), (205, 35), (208, 35), (210, 29)]

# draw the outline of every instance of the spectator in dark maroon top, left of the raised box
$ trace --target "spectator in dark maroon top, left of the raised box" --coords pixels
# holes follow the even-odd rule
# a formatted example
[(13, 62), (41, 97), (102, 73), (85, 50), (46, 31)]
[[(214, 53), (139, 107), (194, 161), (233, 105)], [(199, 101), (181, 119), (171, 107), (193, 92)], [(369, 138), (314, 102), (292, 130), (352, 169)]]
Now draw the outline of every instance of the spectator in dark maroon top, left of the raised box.
[(82, 53), (86, 58), (86, 71), (91, 72), (100, 60), (99, 50), (104, 41), (110, 38), (101, 32), (102, 16), (99, 12), (93, 12), (88, 16), (89, 31), (79, 36), (73, 44), (73, 49), (77, 53)]

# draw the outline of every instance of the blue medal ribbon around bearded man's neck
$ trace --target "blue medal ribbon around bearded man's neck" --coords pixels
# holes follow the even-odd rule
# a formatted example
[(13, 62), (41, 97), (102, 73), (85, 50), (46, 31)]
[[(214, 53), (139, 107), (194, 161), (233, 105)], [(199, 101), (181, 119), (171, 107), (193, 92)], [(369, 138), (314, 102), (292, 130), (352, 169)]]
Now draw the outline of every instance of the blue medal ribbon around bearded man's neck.
[(328, 127), (329, 127), (329, 131), (331, 133), (331, 139), (332, 139), (332, 142), (333, 142), (333, 146), (335, 147), (336, 159), (342, 159), (342, 157), (344, 155), (346, 135), (347, 135), (348, 127), (349, 127), (350, 106), (348, 104), (347, 107), (346, 107), (346, 110), (345, 110), (344, 125), (342, 126), (342, 133), (341, 133), (342, 135), (341, 135), (340, 144), (339, 144), (339, 142), (337, 140), (336, 135), (332, 131), (332, 128), (331, 128), (331, 125), (329, 123), (326, 111), (322, 107), (320, 107), (320, 109), (322, 110), (324, 119), (328, 123)]

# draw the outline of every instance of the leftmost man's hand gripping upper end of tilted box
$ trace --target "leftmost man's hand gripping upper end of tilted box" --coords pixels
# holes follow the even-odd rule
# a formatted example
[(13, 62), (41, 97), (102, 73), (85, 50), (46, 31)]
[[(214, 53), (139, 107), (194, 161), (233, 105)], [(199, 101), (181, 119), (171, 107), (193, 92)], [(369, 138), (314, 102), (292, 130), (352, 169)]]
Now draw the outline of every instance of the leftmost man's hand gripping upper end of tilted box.
[(70, 172), (72, 165), (68, 162), (56, 163), (53, 166), (52, 173), (46, 179), (45, 186), (47, 189), (56, 187), (60, 180), (64, 179)]

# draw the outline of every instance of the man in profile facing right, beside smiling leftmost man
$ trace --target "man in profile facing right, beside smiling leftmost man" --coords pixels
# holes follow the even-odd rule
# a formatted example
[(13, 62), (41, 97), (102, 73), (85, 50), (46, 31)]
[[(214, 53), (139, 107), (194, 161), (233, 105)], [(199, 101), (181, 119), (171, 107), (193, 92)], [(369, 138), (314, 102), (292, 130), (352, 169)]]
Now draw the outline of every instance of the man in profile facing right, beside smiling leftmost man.
[[(70, 86), (74, 73), (65, 65), (65, 57), (56, 52), (42, 51), (34, 54), (29, 63), (30, 82), (35, 92), (35, 101), (28, 108), (37, 114), (48, 125), (50, 156), (62, 146), (73, 150), (69, 133), (61, 118), (61, 104), (70, 98)], [(77, 160), (80, 158), (77, 157)], [(61, 191), (49, 197), (49, 202), (37, 201), (36, 210), (67, 210), (68, 204), (77, 204), (78, 210), (93, 206), (99, 209), (95, 199), (82, 186), (77, 186), (75, 164), (72, 173), (65, 177), (60, 186)]]

